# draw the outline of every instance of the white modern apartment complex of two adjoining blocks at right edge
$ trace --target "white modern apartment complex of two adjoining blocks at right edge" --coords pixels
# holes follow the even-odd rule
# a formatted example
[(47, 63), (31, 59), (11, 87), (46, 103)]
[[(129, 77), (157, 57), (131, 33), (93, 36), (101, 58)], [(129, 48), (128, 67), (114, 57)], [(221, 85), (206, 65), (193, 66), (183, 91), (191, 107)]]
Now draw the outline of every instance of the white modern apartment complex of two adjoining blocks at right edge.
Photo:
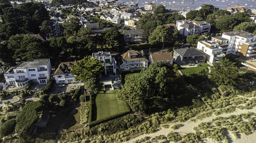
[(218, 62), (218, 58), (230, 53), (253, 59), (256, 58), (256, 36), (243, 31), (224, 32), (222, 36), (212, 37), (211, 41), (199, 41), (197, 48), (207, 54), (209, 64)]

